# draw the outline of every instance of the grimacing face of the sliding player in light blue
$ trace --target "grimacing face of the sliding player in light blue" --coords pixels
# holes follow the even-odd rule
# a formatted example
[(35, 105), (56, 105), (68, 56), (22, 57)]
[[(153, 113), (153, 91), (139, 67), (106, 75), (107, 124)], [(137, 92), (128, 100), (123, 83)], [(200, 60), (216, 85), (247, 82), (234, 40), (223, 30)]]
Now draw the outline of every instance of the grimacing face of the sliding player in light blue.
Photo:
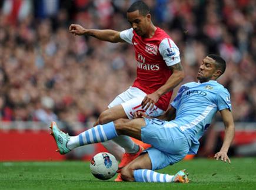
[(220, 75), (221, 71), (217, 69), (215, 60), (211, 57), (205, 57), (202, 60), (200, 68), (197, 73), (197, 79), (201, 82), (208, 82), (209, 80), (215, 80)]

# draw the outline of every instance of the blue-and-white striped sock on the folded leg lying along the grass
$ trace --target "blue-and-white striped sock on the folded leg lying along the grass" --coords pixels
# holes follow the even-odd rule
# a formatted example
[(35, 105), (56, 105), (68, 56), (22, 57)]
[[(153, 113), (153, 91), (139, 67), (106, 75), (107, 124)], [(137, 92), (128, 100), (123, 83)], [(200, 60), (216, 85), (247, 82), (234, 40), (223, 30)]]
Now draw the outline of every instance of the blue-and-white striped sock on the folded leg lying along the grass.
[(160, 174), (151, 169), (134, 170), (134, 179), (137, 182), (172, 182), (174, 175)]

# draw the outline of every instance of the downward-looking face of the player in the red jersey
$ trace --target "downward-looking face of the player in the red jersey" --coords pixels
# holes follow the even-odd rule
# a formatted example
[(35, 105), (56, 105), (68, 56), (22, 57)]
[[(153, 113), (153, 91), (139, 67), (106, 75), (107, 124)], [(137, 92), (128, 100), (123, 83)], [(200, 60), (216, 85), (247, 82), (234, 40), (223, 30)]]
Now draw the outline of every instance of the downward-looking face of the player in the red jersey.
[(143, 16), (139, 14), (139, 11), (128, 12), (127, 13), (128, 22), (131, 24), (134, 31), (139, 36), (144, 36), (148, 32), (148, 28), (151, 23), (150, 14)]

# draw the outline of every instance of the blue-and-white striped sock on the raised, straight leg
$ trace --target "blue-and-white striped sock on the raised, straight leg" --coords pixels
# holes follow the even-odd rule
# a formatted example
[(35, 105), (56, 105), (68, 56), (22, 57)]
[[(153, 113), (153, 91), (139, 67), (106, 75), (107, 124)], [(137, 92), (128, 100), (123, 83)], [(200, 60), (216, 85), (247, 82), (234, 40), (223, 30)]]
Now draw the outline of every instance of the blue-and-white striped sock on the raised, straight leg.
[(75, 137), (70, 137), (67, 147), (72, 150), (86, 144), (108, 141), (117, 136), (115, 125), (113, 122), (110, 122), (90, 128), (89, 130), (84, 131)]

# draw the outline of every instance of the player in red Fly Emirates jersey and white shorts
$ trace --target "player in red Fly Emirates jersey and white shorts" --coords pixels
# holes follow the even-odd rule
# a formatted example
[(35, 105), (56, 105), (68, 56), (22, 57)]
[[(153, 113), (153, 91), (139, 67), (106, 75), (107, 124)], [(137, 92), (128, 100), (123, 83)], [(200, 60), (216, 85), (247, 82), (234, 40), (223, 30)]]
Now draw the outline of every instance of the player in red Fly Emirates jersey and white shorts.
[[(132, 87), (115, 97), (108, 109), (100, 114), (95, 125), (118, 118), (131, 119), (136, 111), (160, 116), (168, 108), (172, 90), (184, 78), (179, 49), (164, 30), (152, 23), (148, 6), (142, 1), (134, 2), (127, 11), (127, 19), (131, 28), (122, 32), (86, 29), (77, 24), (69, 26), (69, 32), (74, 35), (93, 36), (112, 43), (127, 42), (134, 46), (137, 77)], [(114, 151), (117, 144), (111, 141), (104, 146), (114, 155), (125, 150), (119, 168), (138, 157), (143, 149), (128, 136), (119, 136), (114, 141), (124, 149)], [(120, 177), (116, 181), (119, 180)]]

